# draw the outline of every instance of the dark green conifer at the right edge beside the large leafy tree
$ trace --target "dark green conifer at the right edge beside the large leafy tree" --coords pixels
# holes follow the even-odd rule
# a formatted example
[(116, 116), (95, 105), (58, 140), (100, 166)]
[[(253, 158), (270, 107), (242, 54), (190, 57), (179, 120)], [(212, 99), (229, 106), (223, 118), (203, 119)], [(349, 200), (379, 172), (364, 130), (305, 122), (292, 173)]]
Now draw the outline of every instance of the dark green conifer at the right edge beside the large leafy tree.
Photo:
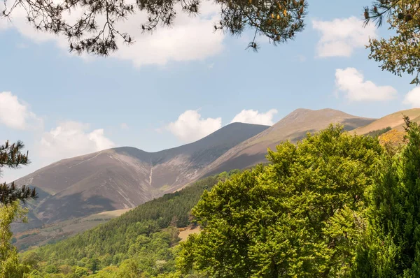
[(384, 156), (367, 191), (367, 233), (355, 277), (420, 277), (420, 127), (405, 117), (407, 145)]

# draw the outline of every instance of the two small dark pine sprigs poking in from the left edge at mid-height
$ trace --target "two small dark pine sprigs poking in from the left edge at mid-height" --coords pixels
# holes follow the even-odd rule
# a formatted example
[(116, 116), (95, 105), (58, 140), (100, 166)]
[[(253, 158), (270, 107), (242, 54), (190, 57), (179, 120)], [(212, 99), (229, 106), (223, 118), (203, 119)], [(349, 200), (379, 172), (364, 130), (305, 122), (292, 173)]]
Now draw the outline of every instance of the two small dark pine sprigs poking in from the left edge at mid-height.
[[(21, 152), (24, 147), (25, 145), (21, 141), (12, 145), (7, 141), (6, 144), (0, 145), (0, 175), (1, 168), (3, 167), (15, 169), (29, 163), (28, 153), (22, 154)], [(10, 186), (6, 182), (0, 184), (0, 205), (7, 205), (13, 203), (15, 200), (25, 202), (27, 199), (36, 197), (36, 190), (30, 189), (28, 186), (18, 188), (14, 182)]]

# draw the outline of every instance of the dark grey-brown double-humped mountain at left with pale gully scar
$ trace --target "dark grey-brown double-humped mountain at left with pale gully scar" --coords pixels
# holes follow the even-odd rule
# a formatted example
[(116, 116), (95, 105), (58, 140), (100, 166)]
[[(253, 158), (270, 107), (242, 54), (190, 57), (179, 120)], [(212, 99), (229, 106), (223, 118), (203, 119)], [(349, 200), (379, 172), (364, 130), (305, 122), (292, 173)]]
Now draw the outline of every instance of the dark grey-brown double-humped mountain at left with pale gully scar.
[(64, 159), (20, 178), (43, 191), (31, 203), (43, 224), (90, 214), (135, 207), (175, 191), (195, 180), (198, 173), (228, 149), (269, 126), (233, 123), (197, 142), (144, 152), (134, 147), (106, 149)]

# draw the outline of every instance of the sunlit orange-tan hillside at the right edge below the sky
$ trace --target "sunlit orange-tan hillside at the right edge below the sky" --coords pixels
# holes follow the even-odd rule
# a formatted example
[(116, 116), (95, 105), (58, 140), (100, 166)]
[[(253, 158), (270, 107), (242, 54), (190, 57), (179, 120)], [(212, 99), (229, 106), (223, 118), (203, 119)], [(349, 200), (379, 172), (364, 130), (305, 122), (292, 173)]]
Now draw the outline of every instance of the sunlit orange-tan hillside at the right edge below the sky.
[(377, 131), (379, 129), (386, 129), (388, 126), (391, 129), (396, 129), (398, 131), (403, 130), (404, 119), (402, 115), (408, 116), (413, 122), (420, 122), (420, 108), (413, 108), (409, 110), (402, 110), (367, 124), (366, 126), (361, 126), (358, 129), (355, 129), (354, 132), (357, 134), (366, 134), (371, 131)]

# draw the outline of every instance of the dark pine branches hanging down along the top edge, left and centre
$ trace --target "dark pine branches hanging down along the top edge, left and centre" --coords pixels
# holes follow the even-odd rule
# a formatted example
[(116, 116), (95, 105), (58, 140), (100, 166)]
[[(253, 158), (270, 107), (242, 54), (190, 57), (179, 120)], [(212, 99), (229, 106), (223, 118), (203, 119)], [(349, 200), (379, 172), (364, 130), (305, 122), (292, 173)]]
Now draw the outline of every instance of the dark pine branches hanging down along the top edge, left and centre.
[[(118, 49), (118, 41), (134, 42), (130, 34), (116, 26), (129, 15), (138, 11), (146, 13), (148, 21), (141, 28), (151, 32), (158, 25), (171, 26), (177, 7), (181, 7), (183, 13), (197, 15), (202, 1), (5, 0), (4, 3), (5, 8), (1, 10), (4, 17), (10, 17), (13, 10), (22, 8), (36, 29), (66, 36), (70, 51), (107, 55)], [(232, 35), (239, 35), (246, 27), (251, 27), (255, 29), (255, 35), (262, 34), (276, 44), (290, 40), (304, 27), (306, 0), (216, 0), (216, 3), (221, 9), (221, 20), (214, 29)], [(77, 20), (71, 22), (65, 17), (76, 11), (80, 15)], [(249, 46), (256, 49), (255, 37)]]

